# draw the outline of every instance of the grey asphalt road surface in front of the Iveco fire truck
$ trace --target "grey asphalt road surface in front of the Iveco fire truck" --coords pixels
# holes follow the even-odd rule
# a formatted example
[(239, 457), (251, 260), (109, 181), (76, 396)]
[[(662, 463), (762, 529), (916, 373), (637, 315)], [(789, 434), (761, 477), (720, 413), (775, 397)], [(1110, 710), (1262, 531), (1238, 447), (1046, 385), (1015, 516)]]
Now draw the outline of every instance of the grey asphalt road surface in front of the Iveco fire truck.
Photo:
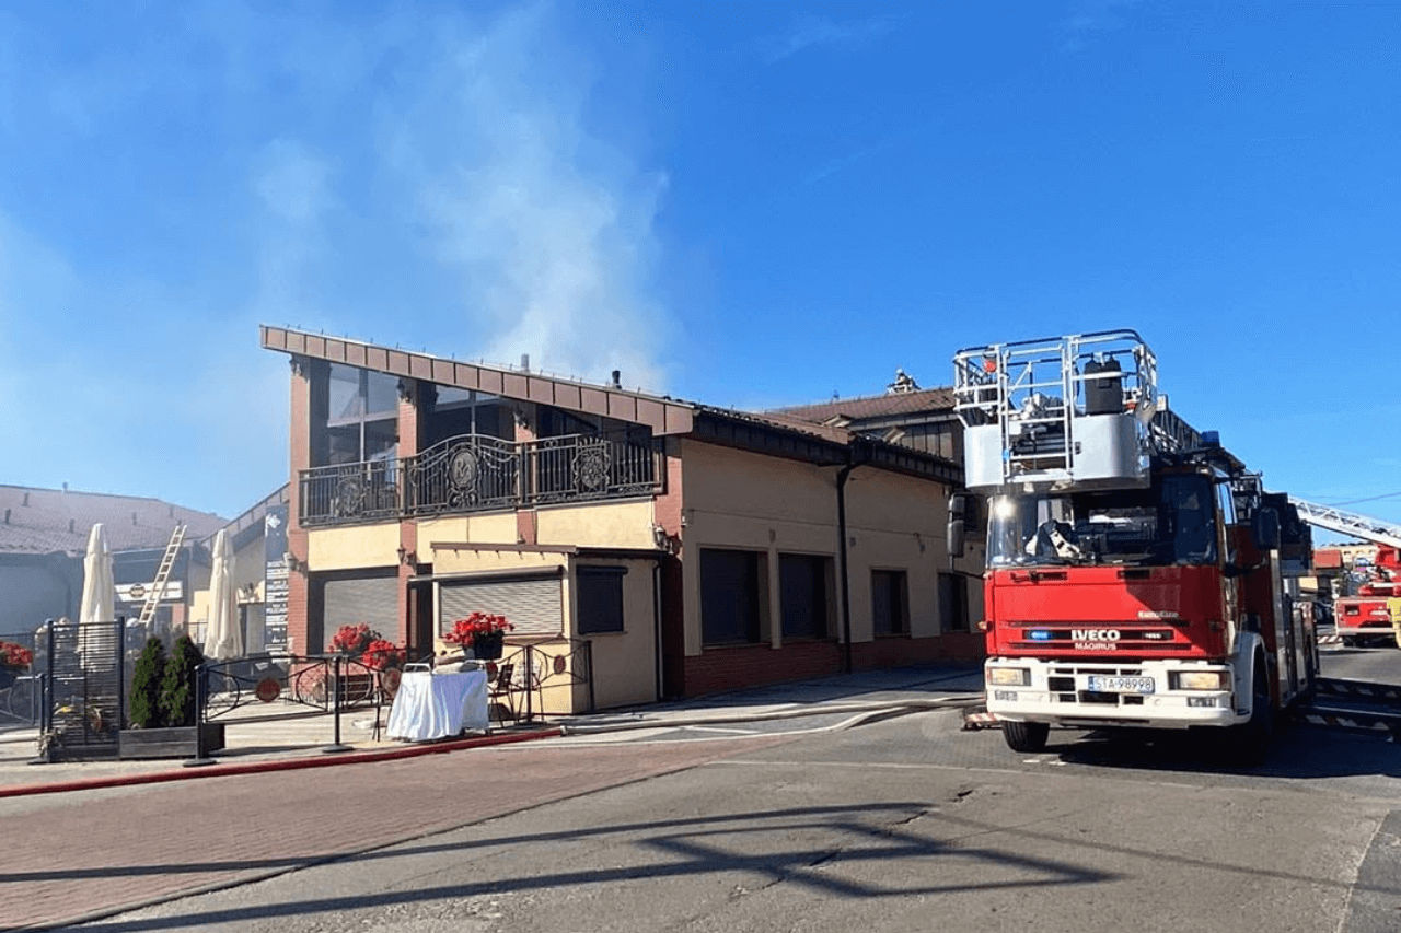
[[(1397, 650), (1327, 651), (1324, 664), (1401, 682)], [(1401, 929), (1401, 754), (1376, 735), (1296, 727), (1267, 765), (1233, 769), (1189, 742), (1070, 731), (1017, 755), (996, 731), (962, 731), (955, 712), (740, 741), (692, 733), (434, 756), (454, 763), (432, 775), (419, 769), (443, 762), (415, 759), (385, 773), (399, 783), (340, 778), (298, 807), (388, 820), (425, 806), (402, 793), (413, 775), (450, 782), (448, 799), (506, 780), (525, 803), (83, 929)], [(635, 772), (612, 786), (527, 806), (539, 775), (607, 783), (623, 758)], [(185, 793), (214, 794), (220, 782), (193, 785)], [(217, 859), (219, 841), (207, 846)]]

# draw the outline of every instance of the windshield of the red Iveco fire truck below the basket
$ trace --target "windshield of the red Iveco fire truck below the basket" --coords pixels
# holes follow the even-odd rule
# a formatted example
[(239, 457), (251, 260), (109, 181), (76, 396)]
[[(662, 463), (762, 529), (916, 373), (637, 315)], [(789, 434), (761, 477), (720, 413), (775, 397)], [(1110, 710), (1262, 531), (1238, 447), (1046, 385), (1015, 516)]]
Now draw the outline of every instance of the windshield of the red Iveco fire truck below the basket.
[(1216, 497), (1199, 475), (1149, 489), (998, 496), (988, 565), (1146, 565), (1216, 562)]

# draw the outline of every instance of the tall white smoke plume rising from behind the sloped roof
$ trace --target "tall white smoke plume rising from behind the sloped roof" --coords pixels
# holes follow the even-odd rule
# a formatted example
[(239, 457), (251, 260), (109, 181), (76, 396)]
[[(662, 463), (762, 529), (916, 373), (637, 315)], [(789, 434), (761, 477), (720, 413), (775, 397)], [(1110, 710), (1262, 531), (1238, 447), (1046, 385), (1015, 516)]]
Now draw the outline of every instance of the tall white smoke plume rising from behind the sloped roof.
[(384, 151), (409, 220), (461, 276), (467, 356), (660, 388), (647, 280), (667, 179), (590, 132), (591, 67), (548, 13), (451, 32), (413, 94), (382, 101)]

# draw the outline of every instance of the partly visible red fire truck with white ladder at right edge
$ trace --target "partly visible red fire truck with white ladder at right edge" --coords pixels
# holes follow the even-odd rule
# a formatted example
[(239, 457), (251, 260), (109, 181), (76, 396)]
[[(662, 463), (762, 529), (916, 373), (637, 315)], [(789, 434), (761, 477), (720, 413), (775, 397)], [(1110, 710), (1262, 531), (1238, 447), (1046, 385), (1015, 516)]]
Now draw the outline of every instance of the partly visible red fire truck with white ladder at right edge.
[(1376, 558), (1366, 566), (1353, 567), (1342, 580), (1342, 593), (1332, 601), (1342, 643), (1379, 642), (1401, 647), (1391, 621), (1393, 608), (1401, 608), (1397, 605), (1401, 602), (1401, 528), (1331, 506), (1292, 502), (1304, 521), (1377, 545)]

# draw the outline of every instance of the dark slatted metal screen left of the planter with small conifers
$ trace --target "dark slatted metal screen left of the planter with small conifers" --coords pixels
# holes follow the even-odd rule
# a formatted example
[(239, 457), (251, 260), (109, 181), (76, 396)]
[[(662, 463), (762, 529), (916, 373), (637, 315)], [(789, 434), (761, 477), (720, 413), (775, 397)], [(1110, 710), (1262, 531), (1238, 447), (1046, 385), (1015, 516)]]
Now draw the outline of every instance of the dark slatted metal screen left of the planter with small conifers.
[(125, 621), (45, 626), (48, 699), (42, 705), (39, 754), (48, 761), (115, 758), (125, 677)]

